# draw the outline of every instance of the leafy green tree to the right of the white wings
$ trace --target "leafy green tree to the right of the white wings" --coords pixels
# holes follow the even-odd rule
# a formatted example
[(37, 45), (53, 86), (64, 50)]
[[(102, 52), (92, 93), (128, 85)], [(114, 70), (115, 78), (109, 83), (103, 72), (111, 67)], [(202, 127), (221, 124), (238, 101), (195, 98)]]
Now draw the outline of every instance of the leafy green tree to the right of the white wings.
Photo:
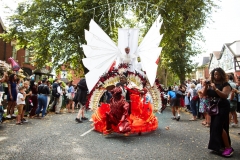
[(193, 69), (191, 57), (201, 52), (195, 44), (203, 40), (200, 30), (209, 20), (212, 9), (216, 7), (211, 0), (166, 0), (161, 15), (164, 24), (161, 32), (163, 65), (175, 73), (181, 82)]

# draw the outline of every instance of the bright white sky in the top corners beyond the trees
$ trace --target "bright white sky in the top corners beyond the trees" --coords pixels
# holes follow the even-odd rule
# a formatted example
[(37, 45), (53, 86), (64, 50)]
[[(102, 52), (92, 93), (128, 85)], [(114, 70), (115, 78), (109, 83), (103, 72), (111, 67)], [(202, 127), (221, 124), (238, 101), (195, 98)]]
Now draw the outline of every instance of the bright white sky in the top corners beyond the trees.
[[(6, 24), (6, 9), (17, 7), (18, 2), (25, 0), (0, 0), (0, 17)], [(240, 0), (215, 0), (220, 6), (217, 12), (212, 13), (212, 20), (203, 29), (205, 42), (198, 42), (203, 48), (203, 52), (198, 56), (209, 56), (213, 51), (220, 51), (224, 43), (232, 43), (240, 40)]]

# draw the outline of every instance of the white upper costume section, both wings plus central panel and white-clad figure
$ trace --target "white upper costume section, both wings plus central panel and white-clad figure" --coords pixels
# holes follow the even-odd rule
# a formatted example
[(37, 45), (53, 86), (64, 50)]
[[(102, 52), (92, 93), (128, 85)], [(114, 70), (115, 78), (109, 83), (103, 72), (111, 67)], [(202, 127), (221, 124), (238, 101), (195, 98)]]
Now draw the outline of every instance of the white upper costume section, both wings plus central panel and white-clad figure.
[[(83, 45), (86, 56), (83, 64), (89, 70), (85, 75), (89, 92), (104, 73), (107, 73), (113, 66), (117, 67), (123, 63), (130, 66), (131, 72), (146, 74), (150, 85), (153, 86), (158, 67), (156, 61), (162, 50), (159, 47), (162, 39), (159, 33), (161, 25), (162, 21), (159, 16), (139, 46), (139, 29), (119, 29), (118, 46), (116, 46), (97, 23), (91, 20), (89, 31), (85, 30), (87, 44)], [(138, 57), (141, 62), (138, 62)]]

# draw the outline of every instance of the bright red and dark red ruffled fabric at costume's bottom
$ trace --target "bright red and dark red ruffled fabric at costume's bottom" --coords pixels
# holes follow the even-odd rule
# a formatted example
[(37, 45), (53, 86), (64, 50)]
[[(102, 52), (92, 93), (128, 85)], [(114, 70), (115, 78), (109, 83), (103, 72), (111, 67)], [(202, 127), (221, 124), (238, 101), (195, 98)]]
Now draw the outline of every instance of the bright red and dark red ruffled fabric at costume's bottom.
[[(153, 114), (153, 107), (151, 103), (145, 104), (145, 96), (142, 97), (139, 93), (132, 93), (130, 95), (130, 99), (130, 116), (128, 114), (124, 114), (125, 112), (123, 112), (123, 110), (126, 111), (126, 108), (123, 110), (121, 107), (119, 108), (119, 106), (123, 105), (123, 99), (119, 99), (119, 102), (112, 101), (114, 103), (110, 104), (110, 106), (113, 105), (111, 107), (109, 107), (108, 104), (101, 104), (101, 106), (92, 115), (95, 130), (104, 132), (106, 129), (109, 129), (107, 127), (108, 124), (111, 124), (111, 129), (117, 133), (141, 133), (156, 130), (158, 128), (158, 120)], [(123, 117), (123, 115), (126, 116)], [(122, 117), (121, 121), (120, 117)]]

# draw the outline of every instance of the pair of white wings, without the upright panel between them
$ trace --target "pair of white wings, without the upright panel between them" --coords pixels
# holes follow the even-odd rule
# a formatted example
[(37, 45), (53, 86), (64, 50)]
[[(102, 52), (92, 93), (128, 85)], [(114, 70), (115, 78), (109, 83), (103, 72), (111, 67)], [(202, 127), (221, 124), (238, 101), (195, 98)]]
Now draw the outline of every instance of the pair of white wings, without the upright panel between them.
[[(156, 78), (158, 66), (156, 60), (162, 49), (158, 47), (162, 39), (162, 35), (159, 34), (161, 24), (159, 16), (135, 52), (135, 55), (141, 58), (140, 66), (143, 71), (146, 71), (151, 86)], [(87, 45), (83, 45), (86, 56), (83, 64), (89, 70), (85, 77), (90, 92), (103, 73), (107, 72), (113, 62), (121, 57), (121, 51), (94, 20), (91, 20), (89, 26), (89, 31), (85, 30)]]

